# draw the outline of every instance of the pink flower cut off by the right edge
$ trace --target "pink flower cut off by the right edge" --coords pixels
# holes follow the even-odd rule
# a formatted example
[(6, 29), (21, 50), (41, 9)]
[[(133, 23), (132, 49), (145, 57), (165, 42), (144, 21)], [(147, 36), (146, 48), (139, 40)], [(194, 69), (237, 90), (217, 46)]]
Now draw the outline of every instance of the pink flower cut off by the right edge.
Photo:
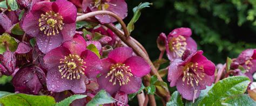
[(247, 49), (242, 51), (234, 61), (246, 69), (246, 72), (254, 73), (256, 71), (256, 49)]

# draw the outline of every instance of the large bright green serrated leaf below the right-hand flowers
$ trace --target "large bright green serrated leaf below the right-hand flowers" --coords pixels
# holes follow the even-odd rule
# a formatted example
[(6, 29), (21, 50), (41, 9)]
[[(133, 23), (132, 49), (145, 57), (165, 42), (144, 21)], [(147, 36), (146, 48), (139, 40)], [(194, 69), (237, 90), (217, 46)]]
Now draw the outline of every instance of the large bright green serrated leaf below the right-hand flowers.
[(246, 76), (227, 77), (217, 82), (199, 105), (220, 105), (221, 100), (225, 100), (226, 97), (244, 94), (250, 82)]

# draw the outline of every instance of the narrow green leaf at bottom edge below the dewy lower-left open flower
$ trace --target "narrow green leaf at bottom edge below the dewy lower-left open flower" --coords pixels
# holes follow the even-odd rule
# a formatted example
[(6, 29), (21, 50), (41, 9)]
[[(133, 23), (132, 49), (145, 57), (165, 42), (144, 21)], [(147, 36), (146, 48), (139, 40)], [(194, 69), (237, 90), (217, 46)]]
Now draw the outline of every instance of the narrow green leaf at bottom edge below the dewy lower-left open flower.
[(72, 96), (70, 96), (68, 98), (65, 98), (65, 100), (63, 100), (63, 101), (60, 101), (60, 102), (56, 103), (55, 106), (69, 105), (73, 101), (78, 100), (80, 98), (84, 98), (86, 96), (87, 95), (72, 95)]

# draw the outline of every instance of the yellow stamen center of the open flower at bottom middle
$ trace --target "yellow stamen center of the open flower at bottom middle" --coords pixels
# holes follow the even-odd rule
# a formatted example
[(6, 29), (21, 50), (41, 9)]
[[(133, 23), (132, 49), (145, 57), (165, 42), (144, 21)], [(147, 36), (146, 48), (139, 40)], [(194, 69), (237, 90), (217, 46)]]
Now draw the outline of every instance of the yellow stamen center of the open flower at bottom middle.
[(133, 75), (129, 66), (125, 66), (123, 63), (117, 63), (110, 67), (110, 72), (107, 73), (106, 77), (109, 76), (111, 77), (109, 81), (113, 82), (113, 85), (118, 81), (119, 85), (122, 86), (122, 84), (127, 84), (130, 81), (130, 76)]

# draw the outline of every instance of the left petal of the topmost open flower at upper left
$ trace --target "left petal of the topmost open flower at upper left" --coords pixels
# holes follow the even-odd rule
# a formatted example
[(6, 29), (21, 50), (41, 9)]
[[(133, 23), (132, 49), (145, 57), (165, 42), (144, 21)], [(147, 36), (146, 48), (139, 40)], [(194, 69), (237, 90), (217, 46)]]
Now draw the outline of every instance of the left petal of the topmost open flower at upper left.
[(23, 20), (22, 29), (26, 32), (26, 34), (29, 34), (31, 37), (38, 36), (38, 33), (40, 32), (38, 26), (38, 19), (41, 18), (40, 15), (40, 12), (29, 12)]

